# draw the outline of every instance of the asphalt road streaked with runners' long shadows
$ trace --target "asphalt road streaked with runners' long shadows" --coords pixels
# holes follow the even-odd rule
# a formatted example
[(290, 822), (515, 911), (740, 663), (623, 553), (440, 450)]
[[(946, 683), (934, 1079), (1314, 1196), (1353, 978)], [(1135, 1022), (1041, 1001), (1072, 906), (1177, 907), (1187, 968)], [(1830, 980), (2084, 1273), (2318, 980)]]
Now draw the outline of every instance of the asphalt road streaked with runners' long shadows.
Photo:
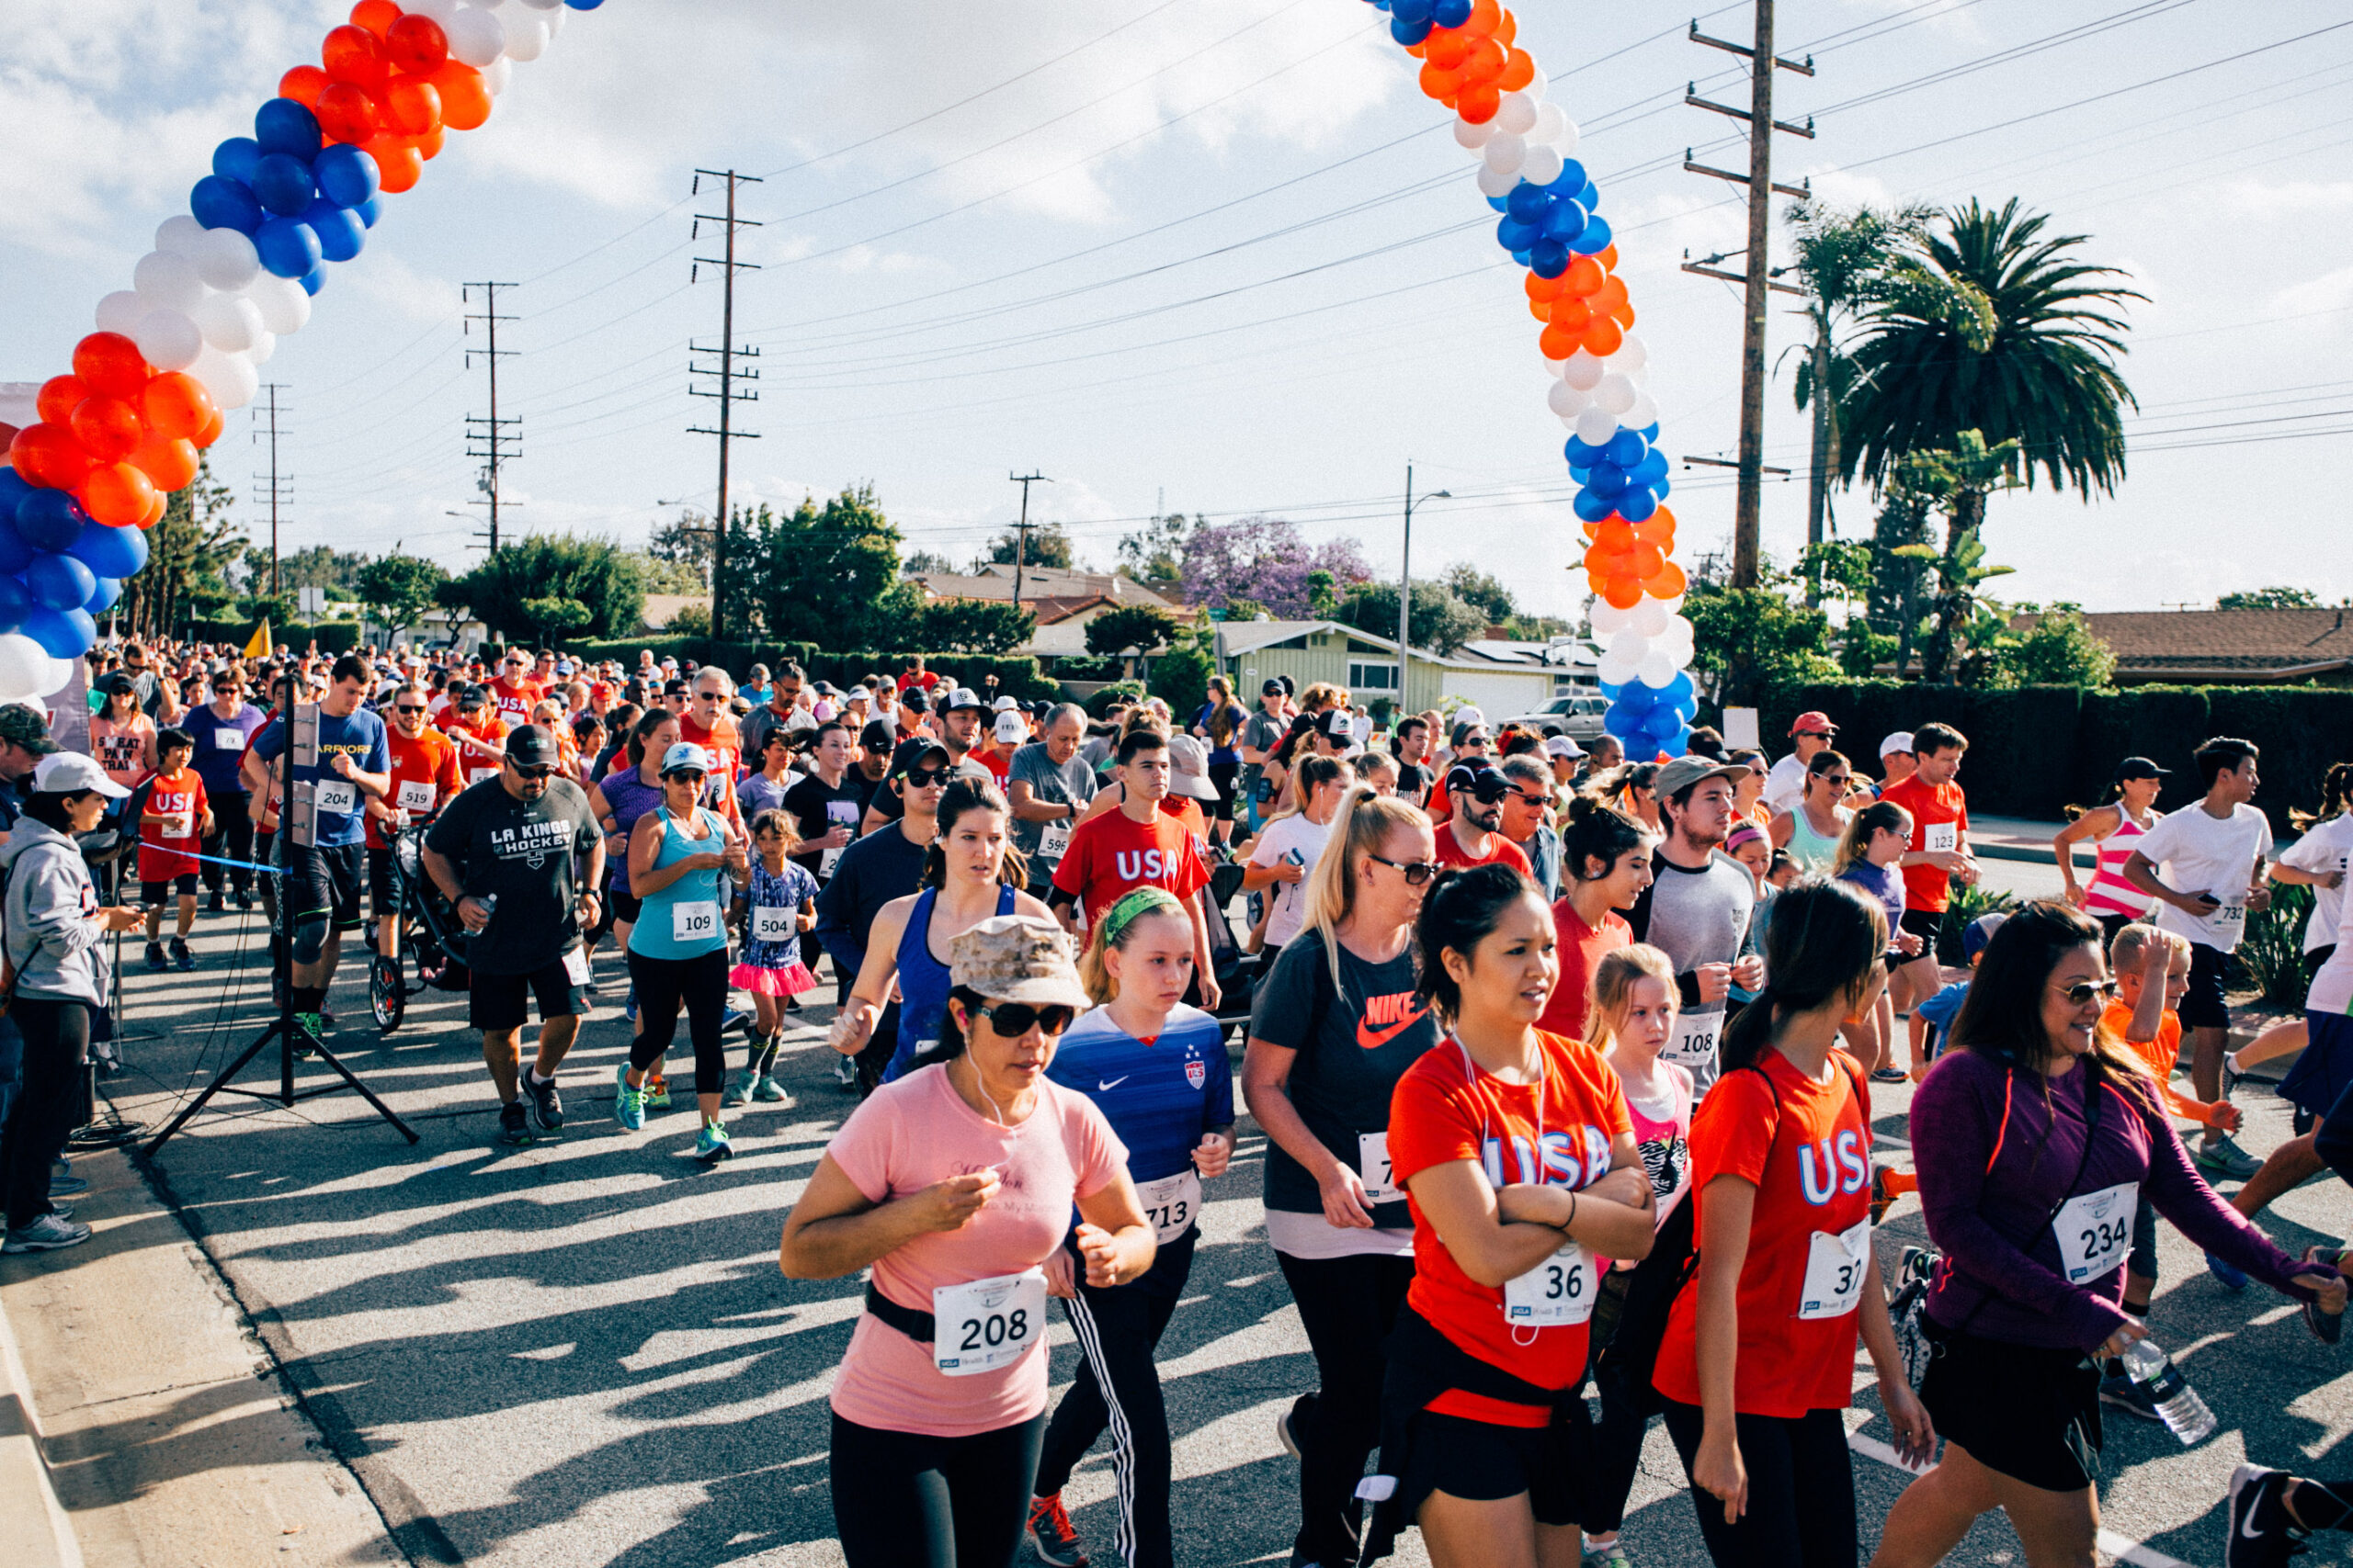
[[(264, 1023), (259, 922), (207, 917), (195, 945), (202, 961), (191, 976), (151, 976), (129, 950), (134, 1070), (106, 1086), (125, 1117), (162, 1121)], [(831, 1009), (802, 1013), (779, 1058), (800, 1103), (734, 1112), (739, 1157), (706, 1171), (689, 1157), (692, 1112), (649, 1117), (642, 1133), (612, 1121), (626, 1025), (619, 964), (607, 954), (598, 973), (605, 1006), (562, 1074), (569, 1128), (558, 1143), (494, 1145), (464, 997), (419, 999), (409, 1023), (379, 1041), (360, 985), (346, 978), (334, 994), (346, 1023), (332, 1044), (421, 1143), (402, 1143), (348, 1093), (296, 1110), (214, 1103), (165, 1147), (155, 1175), (416, 1561), (835, 1563), (826, 1389), (859, 1309), (856, 1284), (793, 1284), (774, 1260), (779, 1222), (849, 1110), (824, 1048)], [(673, 1063), (685, 1086), (685, 1053)], [(247, 1081), (264, 1077), (275, 1081), (275, 1046), (266, 1074)], [(325, 1074), (304, 1065), (301, 1081), (318, 1086)], [(2285, 1103), (2242, 1098), (2249, 1147), (2287, 1135)], [(1899, 1159), (1906, 1103), (1908, 1091), (1878, 1103), (1882, 1150)], [(680, 1093), (680, 1105), (692, 1100)], [(1184, 1563), (1280, 1563), (1297, 1516), (1273, 1418), (1311, 1385), (1313, 1363), (1264, 1239), (1264, 1140), (1249, 1124), (1242, 1131), (1233, 1173), (1209, 1192), (1193, 1286), (1162, 1345)], [(1925, 1241), (1911, 1201), (1885, 1229), (1889, 1246)], [(2289, 1251), (2346, 1229), (2334, 1178), (2289, 1194), (2273, 1215)], [(2353, 1432), (2353, 1345), (2318, 1347), (2261, 1286), (2226, 1293), (2169, 1227), (2162, 1248), (2151, 1328), (2221, 1432), (2184, 1450), (2158, 1427), (2108, 1422), (2108, 1544), (2139, 1542), (2134, 1561), (2148, 1568), (2221, 1559), (2235, 1462), (2329, 1474)], [(1052, 1356), (1059, 1389), (1075, 1363), (1066, 1328), (1056, 1326)], [(1887, 1429), (1868, 1373), (1859, 1385), (1854, 1474), (1868, 1547), (1906, 1476), (1868, 1458)], [(1108, 1495), (1099, 1450), (1068, 1493), (1099, 1561), (1108, 1561)], [(1645, 1566), (1706, 1561), (1659, 1427), (1626, 1542)], [(1424, 1561), (1414, 1535), (1400, 1561)], [(1951, 1561), (2024, 1559), (1995, 1516)]]

